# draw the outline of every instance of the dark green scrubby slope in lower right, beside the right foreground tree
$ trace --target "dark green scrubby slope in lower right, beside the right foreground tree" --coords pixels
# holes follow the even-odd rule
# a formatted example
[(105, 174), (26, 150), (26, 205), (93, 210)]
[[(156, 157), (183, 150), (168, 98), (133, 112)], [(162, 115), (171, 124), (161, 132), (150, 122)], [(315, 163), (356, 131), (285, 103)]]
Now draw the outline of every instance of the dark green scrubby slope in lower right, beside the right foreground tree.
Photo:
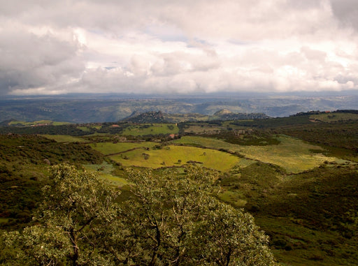
[(296, 175), (255, 163), (221, 177), (231, 205), (245, 209), (271, 237), (271, 249), (289, 265), (355, 265), (357, 165), (327, 163)]

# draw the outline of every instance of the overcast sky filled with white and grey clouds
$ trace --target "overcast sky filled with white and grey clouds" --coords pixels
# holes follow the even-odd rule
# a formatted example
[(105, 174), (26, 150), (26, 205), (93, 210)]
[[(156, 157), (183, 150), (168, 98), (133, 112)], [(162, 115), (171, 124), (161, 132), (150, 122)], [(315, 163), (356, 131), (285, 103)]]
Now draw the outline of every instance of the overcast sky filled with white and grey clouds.
[(357, 89), (357, 0), (0, 0), (1, 95)]

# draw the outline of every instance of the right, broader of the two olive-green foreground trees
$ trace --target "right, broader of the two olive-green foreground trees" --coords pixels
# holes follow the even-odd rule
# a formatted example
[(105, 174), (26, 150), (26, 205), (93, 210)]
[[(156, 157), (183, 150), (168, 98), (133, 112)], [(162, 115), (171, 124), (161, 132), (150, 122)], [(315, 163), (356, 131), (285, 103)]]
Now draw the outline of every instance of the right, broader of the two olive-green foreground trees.
[[(188, 167), (185, 174), (131, 171), (134, 197), (108, 236), (120, 265), (275, 265), (268, 238), (250, 214), (213, 197), (216, 175)], [(116, 232), (112, 230), (112, 232)]]

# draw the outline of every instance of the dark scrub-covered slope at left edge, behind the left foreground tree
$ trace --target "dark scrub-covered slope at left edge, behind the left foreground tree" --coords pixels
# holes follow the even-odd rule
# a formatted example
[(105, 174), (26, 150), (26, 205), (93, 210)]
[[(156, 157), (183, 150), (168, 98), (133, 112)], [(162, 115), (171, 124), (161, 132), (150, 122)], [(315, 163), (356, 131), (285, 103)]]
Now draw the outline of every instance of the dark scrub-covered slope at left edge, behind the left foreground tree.
[(101, 163), (99, 152), (78, 142), (57, 143), (36, 135), (0, 135), (1, 227), (21, 227), (31, 221), (47, 184), (48, 165), (60, 162)]

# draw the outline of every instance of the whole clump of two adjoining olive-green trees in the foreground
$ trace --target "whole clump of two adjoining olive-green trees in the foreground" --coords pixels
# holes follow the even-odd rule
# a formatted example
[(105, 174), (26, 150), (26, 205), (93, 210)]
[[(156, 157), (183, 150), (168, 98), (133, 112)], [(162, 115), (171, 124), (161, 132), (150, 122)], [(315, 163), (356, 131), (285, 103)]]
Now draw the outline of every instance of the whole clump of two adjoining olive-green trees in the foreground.
[(6, 234), (13, 265), (275, 265), (252, 216), (213, 196), (212, 172), (129, 178), (132, 194), (118, 202), (90, 172), (53, 168), (34, 226)]

